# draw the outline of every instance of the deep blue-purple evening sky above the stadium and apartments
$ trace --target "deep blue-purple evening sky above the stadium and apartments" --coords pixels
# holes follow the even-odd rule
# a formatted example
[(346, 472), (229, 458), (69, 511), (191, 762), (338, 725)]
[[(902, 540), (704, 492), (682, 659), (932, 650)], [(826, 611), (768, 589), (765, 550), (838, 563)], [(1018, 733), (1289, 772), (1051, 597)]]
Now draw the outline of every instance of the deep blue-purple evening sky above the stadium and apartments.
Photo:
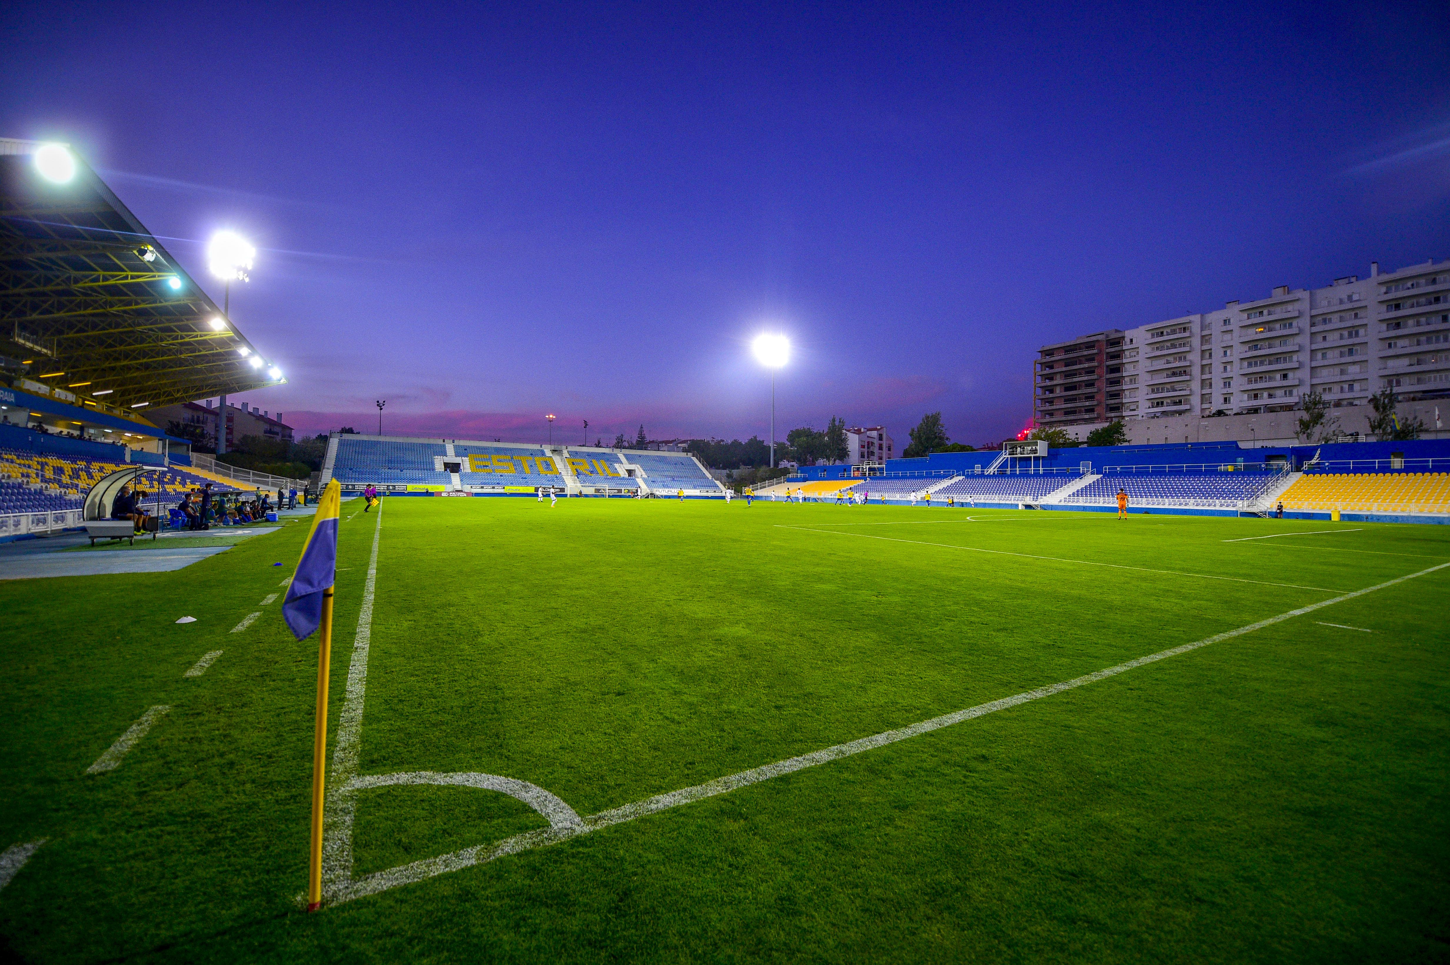
[(1040, 343), (1450, 255), (1441, 3), (1163, 6), (12, 1), (0, 136), (249, 236), (304, 430), (764, 436), (770, 327), (782, 438), (982, 443)]

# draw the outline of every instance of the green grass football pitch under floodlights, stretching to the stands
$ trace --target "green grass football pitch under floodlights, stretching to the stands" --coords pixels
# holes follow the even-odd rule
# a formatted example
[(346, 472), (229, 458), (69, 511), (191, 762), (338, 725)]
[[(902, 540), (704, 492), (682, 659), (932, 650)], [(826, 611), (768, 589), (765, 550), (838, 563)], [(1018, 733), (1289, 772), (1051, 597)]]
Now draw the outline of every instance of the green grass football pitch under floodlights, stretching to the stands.
[(1450, 527), (361, 510), (313, 914), (307, 527), (0, 584), (12, 956), (1450, 955)]

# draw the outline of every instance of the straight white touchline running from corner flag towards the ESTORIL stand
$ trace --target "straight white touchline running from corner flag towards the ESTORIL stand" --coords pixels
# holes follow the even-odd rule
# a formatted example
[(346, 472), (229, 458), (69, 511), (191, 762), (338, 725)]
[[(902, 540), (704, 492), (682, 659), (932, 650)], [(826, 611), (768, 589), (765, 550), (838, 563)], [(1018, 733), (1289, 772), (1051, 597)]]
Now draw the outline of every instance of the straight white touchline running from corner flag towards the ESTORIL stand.
[(383, 539), (383, 506), (377, 507), (373, 525), (373, 552), (367, 561), (367, 581), (362, 584), (362, 606), (358, 627), (352, 636), (352, 659), (348, 664), (348, 691), (338, 716), (338, 743), (332, 751), (332, 784), (328, 787), (322, 822), (322, 891), (323, 897), (347, 885), (352, 878), (352, 819), (357, 795), (348, 784), (358, 771), (358, 743), (362, 733), (362, 700), (367, 691), (367, 656), (373, 642), (373, 598), (377, 593), (377, 546)]

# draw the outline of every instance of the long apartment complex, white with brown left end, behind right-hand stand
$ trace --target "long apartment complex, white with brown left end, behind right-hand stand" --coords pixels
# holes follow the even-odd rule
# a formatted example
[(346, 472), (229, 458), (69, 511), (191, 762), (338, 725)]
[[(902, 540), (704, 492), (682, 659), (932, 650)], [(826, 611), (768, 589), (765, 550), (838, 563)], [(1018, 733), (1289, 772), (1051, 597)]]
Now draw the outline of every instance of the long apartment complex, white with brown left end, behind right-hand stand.
[[(1121, 372), (1108, 371), (1111, 335), (1122, 338)], [(1086, 365), (1099, 345), (1102, 367)], [(1450, 259), (1389, 274), (1373, 262), (1366, 278), (1280, 285), (1218, 312), (1048, 345), (1035, 369), (1037, 425), (1289, 412), (1309, 390), (1335, 409), (1362, 406), (1386, 387), (1406, 401), (1446, 397)], [(1063, 375), (1073, 378), (1063, 384)]]

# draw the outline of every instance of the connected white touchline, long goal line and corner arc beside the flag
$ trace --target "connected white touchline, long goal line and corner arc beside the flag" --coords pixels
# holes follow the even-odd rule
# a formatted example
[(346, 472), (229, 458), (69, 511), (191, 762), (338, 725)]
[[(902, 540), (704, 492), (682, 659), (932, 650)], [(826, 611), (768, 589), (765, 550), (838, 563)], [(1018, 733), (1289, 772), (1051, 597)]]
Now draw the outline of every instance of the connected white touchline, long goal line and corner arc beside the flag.
[[(381, 525), (381, 519), (378, 520)], [(950, 714), (942, 714), (940, 717), (932, 717), (931, 720), (922, 720), (919, 723), (909, 724), (899, 730), (886, 730), (883, 733), (873, 735), (870, 738), (861, 738), (858, 740), (850, 740), (847, 743), (838, 743), (829, 748), (822, 748), (821, 751), (813, 751), (811, 753), (803, 753), (796, 758), (789, 758), (786, 761), (776, 761), (774, 764), (767, 764), (764, 766), (751, 768), (750, 771), (740, 771), (737, 774), (729, 774), (713, 781), (706, 781), (705, 784), (696, 784), (695, 787), (680, 788), (679, 791), (670, 791), (667, 794), (657, 794), (648, 797), (642, 801), (635, 801), (632, 804), (624, 804), (622, 807), (615, 807), (597, 814), (589, 814), (580, 820), (579, 824), (573, 824), (567, 820), (555, 820), (554, 816), (545, 813), (539, 806), (526, 801), (519, 794), (519, 800), (525, 800), (541, 814), (545, 814), (550, 820), (548, 827), (538, 830), (523, 832), (521, 835), (513, 835), (505, 837), (496, 845), (474, 845), (473, 848), (464, 848), (447, 855), (438, 855), (436, 858), (425, 858), (422, 861), (415, 861), (412, 864), (399, 865), (396, 868), (389, 868), (386, 871), (378, 871), (370, 875), (362, 875), (361, 878), (352, 877), (352, 814), (354, 801), (352, 795), (355, 790), (364, 787), (387, 787), (390, 784), (454, 784), (464, 787), (483, 787), (487, 790), (503, 790), (493, 782), (509, 781), (509, 778), (500, 778), (492, 774), (435, 774), (435, 772), (410, 772), (410, 774), (394, 774), (394, 775), (376, 775), (376, 777), (357, 777), (357, 753), (358, 753), (358, 730), (362, 722), (362, 688), (367, 675), (367, 643), (371, 638), (371, 611), (373, 611), (373, 581), (377, 575), (377, 533), (373, 536), (373, 561), (368, 564), (368, 585), (364, 593), (364, 613), (367, 614), (367, 623), (360, 616), (358, 619), (358, 645), (364, 648), (362, 659), (358, 661), (357, 645), (352, 652), (352, 668), (348, 672), (348, 698), (342, 709), (345, 724), (338, 729), (338, 752), (334, 761), (334, 790), (329, 791), (328, 798), (328, 830), (323, 839), (323, 865), (322, 865), (322, 887), (323, 897), (329, 904), (341, 904), (344, 901), (351, 901), (354, 898), (362, 898), (371, 894), (378, 894), (390, 888), (396, 888), (405, 884), (413, 884), (418, 881), (425, 881), (428, 878), (450, 872), (460, 871), (463, 868), (471, 868), (474, 865), (486, 864), (494, 858), (502, 858), (503, 855), (515, 855), (534, 848), (544, 848), (547, 845), (555, 845), (561, 840), (568, 840), (570, 837), (577, 837), (579, 835), (587, 835), (600, 827), (609, 827), (610, 824), (622, 824), (625, 822), (632, 822), (638, 817), (647, 814), (657, 814), (682, 804), (689, 804), (692, 801), (699, 801), (708, 797), (715, 797), (716, 794), (728, 794), (741, 787), (748, 787), (751, 784), (760, 784), (761, 781), (768, 781), (770, 778), (777, 778), (786, 774), (795, 774), (796, 771), (803, 771), (805, 768), (812, 768), (819, 764), (826, 764), (829, 761), (838, 761), (841, 758), (848, 758), (863, 751), (873, 751), (876, 748), (883, 748), (889, 743), (896, 743), (898, 740), (906, 740), (908, 738), (915, 738), (932, 730), (940, 730), (941, 727), (948, 727), (964, 720), (972, 720), (974, 717), (982, 717), (998, 710), (1006, 710), (1009, 707), (1016, 707), (1018, 704), (1025, 704), (1032, 700), (1041, 700), (1043, 697), (1051, 697), (1053, 694), (1060, 694), (1064, 690), (1073, 690), (1076, 687), (1085, 687), (1086, 684), (1093, 684), (1109, 677), (1116, 677), (1125, 671), (1144, 667), (1147, 664), (1154, 664), (1170, 656), (1177, 656), (1180, 653), (1188, 653), (1196, 651), (1209, 643), (1219, 643), (1222, 640), (1232, 639), (1235, 636), (1243, 636), (1246, 633), (1253, 633), (1254, 630), (1262, 630), (1266, 626), (1273, 626), (1275, 623), (1282, 623), (1285, 620), (1293, 619), (1296, 616), (1304, 616), (1306, 613), (1314, 613), (1315, 610), (1322, 610), (1324, 607), (1334, 606), (1335, 603), (1344, 603), (1346, 600), (1353, 600), (1362, 597), (1367, 593), (1375, 593), (1376, 590), (1385, 590), (1386, 587), (1393, 587), (1395, 584), (1405, 582), (1406, 580), (1415, 580), (1417, 577), (1424, 577), (1427, 574), (1436, 572), (1450, 567), (1450, 562), (1443, 562), (1437, 567), (1430, 567), (1428, 569), (1421, 569), (1420, 572), (1412, 572), (1404, 577), (1395, 577), (1393, 580), (1386, 580), (1385, 582), (1375, 584), (1373, 587), (1364, 587), (1363, 590), (1351, 590), (1350, 593), (1340, 594), (1330, 600), (1322, 600), (1320, 603), (1311, 603), (1308, 606), (1299, 607), (1296, 610), (1289, 610), (1288, 613), (1280, 613), (1279, 616), (1272, 616), (1257, 623), (1250, 623), (1248, 626), (1241, 626), (1235, 630), (1225, 630), (1224, 633), (1217, 633), (1214, 636), (1204, 638), (1202, 640), (1195, 640), (1192, 643), (1183, 643), (1166, 651), (1159, 651), (1157, 653), (1148, 653), (1147, 656), (1140, 656), (1137, 659), (1128, 661), (1125, 664), (1116, 664), (1115, 667), (1108, 667), (1106, 669), (1096, 671), (1093, 674), (1086, 674), (1083, 677), (1076, 677), (1060, 684), (1051, 684), (1048, 687), (1038, 687), (1037, 690), (1030, 690), (1012, 697), (1003, 697), (1000, 700), (993, 700), (985, 704), (977, 704), (976, 707), (967, 707), (966, 710), (957, 710)], [(361, 674), (358, 672), (361, 667)], [(349, 716), (351, 714), (351, 716)], [(347, 727), (347, 753), (344, 753), (344, 727)], [(345, 778), (339, 781), (339, 777), (345, 772)], [(519, 781), (518, 785), (526, 788), (535, 788), (532, 784)], [(542, 794), (548, 794), (542, 788), (536, 788)], [(512, 791), (503, 790), (505, 794)], [(557, 797), (548, 794), (550, 798), (558, 801)], [(574, 814), (573, 809), (567, 804), (558, 801), (558, 804), (567, 809), (568, 814)], [(341, 807), (345, 807), (345, 819), (334, 817), (338, 814)], [(344, 824), (345, 820), (345, 824)]]

